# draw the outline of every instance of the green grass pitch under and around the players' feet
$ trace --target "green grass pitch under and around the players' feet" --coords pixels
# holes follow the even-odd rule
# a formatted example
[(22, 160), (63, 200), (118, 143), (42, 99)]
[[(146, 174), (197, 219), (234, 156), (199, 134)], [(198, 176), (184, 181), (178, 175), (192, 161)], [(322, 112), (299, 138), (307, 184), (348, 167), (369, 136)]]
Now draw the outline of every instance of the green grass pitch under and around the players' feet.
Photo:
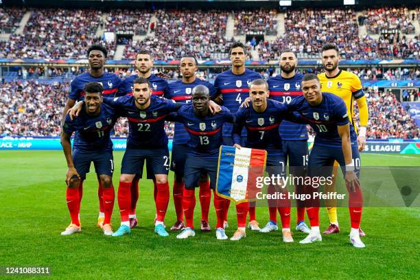
[[(114, 154), (114, 185), (122, 154)], [(366, 248), (362, 250), (349, 243), (349, 212), (345, 208), (338, 209), (342, 232), (324, 236), (323, 242), (316, 244), (299, 244), (304, 233), (294, 233), (295, 242), (285, 244), (281, 242), (281, 231), (247, 231), (246, 239), (240, 242), (215, 240), (213, 204), (210, 233), (197, 230), (196, 237), (176, 240), (176, 233), (167, 238), (154, 235), (152, 183), (141, 180), (139, 227), (128, 236), (106, 237), (96, 227), (97, 182), (91, 168), (84, 183), (82, 233), (63, 237), (60, 232), (70, 218), (62, 152), (0, 151), (0, 158), (3, 267), (49, 266), (51, 276), (47, 279), (417, 279), (419, 275), (419, 208), (365, 208), (362, 228), (367, 236), (363, 238)], [(362, 154), (362, 165), (419, 166), (420, 156)], [(170, 185), (172, 180), (171, 172)], [(195, 213), (198, 229), (198, 200)], [(257, 208), (257, 218), (264, 226), (268, 209)], [(292, 209), (292, 227), (295, 219)], [(326, 228), (327, 219), (327, 211), (321, 209), (321, 230)], [(174, 221), (171, 198), (165, 223), (168, 227)], [(226, 233), (231, 237), (236, 227), (233, 205), (229, 221)], [(115, 229), (119, 225), (117, 201), (113, 224)]]

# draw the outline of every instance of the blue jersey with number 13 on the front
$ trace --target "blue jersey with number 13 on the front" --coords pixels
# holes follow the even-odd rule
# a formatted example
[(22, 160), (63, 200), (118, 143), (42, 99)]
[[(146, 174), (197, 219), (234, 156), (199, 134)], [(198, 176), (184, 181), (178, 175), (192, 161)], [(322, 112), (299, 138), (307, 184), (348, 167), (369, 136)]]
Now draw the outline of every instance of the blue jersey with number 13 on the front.
[(228, 108), (221, 106), (222, 110), (215, 114), (198, 117), (194, 107), (187, 105), (181, 107), (176, 113), (176, 121), (185, 126), (189, 133), (187, 153), (196, 155), (215, 156), (222, 145), (222, 127), (226, 122), (232, 123), (233, 115)]

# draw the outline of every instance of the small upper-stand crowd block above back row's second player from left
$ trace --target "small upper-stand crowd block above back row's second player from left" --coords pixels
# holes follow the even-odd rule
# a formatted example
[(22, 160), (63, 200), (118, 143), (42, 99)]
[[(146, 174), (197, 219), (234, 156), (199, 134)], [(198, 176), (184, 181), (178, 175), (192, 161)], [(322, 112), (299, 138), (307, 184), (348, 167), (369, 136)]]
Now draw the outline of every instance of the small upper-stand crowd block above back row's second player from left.
[(135, 35), (145, 35), (148, 32), (152, 14), (148, 10), (110, 10), (102, 27), (110, 32), (132, 32)]

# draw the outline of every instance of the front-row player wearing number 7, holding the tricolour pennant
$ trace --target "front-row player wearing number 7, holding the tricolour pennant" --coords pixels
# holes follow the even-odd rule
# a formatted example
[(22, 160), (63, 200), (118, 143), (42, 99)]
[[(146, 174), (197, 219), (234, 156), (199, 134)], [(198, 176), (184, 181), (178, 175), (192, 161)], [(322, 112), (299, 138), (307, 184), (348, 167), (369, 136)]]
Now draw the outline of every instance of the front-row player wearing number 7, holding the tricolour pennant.
[[(266, 171), (269, 176), (285, 175), (285, 154), (282, 149), (281, 138), (279, 135), (279, 125), (286, 117), (288, 109), (275, 100), (268, 99), (268, 83), (264, 79), (253, 80), (249, 86), (249, 96), (252, 104), (248, 108), (240, 108), (235, 114), (235, 125), (233, 126), (233, 142), (236, 148), (244, 146), (246, 148), (263, 149), (267, 151)], [(246, 128), (247, 137), (245, 145), (241, 145), (241, 132)], [(285, 194), (286, 198), (275, 200), (275, 211), (279, 210), (281, 223), (283, 225), (283, 242), (293, 242), (290, 232), (290, 200), (287, 189), (281, 185), (272, 186)], [(272, 205), (269, 201), (269, 205)], [(242, 205), (244, 203), (240, 203)], [(245, 203), (246, 204), (246, 203)], [(278, 206), (277, 206), (278, 205)], [(240, 240), (246, 236), (244, 217), (237, 214), (238, 230), (231, 240)]]

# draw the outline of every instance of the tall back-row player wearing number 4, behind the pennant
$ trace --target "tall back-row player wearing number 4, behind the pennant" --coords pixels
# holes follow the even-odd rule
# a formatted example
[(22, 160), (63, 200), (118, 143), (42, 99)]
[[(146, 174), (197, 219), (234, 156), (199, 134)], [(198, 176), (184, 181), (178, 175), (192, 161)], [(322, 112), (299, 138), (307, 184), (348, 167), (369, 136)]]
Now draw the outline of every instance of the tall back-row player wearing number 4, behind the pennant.
[[(223, 102), (223, 105), (235, 114), (240, 108), (242, 102), (249, 96), (249, 85), (255, 79), (262, 78), (259, 73), (246, 69), (245, 60), (246, 47), (240, 42), (235, 42), (229, 50), (231, 55), (232, 68), (220, 73), (214, 81), (216, 89), (216, 102)], [(223, 126), (223, 145), (233, 145), (232, 143), (232, 124)], [(242, 131), (243, 144), (246, 139), (246, 130)], [(229, 211), (230, 200), (226, 200), (224, 224), (227, 226), (227, 215)], [(248, 207), (247, 207), (248, 208)], [(259, 224), (255, 217), (255, 203), (250, 202), (248, 228), (253, 231), (259, 231)]]

